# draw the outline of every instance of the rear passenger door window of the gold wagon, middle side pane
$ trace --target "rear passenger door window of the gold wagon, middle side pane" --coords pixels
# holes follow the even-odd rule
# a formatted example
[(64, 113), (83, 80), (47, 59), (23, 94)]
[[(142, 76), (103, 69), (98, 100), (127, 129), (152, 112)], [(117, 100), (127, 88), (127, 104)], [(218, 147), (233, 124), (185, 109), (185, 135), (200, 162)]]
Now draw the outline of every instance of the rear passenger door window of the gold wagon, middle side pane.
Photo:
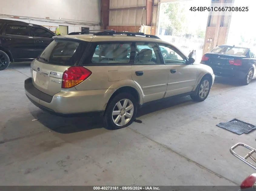
[(156, 43), (136, 43), (136, 65), (160, 64), (160, 53)]

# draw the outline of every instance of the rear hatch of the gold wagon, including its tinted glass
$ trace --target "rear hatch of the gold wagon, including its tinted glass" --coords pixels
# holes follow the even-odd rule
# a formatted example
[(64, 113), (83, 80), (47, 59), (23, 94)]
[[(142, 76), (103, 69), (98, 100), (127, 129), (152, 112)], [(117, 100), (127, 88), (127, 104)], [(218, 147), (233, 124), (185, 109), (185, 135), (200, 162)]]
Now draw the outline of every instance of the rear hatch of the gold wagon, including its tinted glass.
[[(88, 38), (88, 41), (91, 39)], [(63, 73), (79, 65), (88, 42), (72, 37), (57, 37), (31, 63), (31, 76), (35, 88), (53, 96), (61, 91)]]

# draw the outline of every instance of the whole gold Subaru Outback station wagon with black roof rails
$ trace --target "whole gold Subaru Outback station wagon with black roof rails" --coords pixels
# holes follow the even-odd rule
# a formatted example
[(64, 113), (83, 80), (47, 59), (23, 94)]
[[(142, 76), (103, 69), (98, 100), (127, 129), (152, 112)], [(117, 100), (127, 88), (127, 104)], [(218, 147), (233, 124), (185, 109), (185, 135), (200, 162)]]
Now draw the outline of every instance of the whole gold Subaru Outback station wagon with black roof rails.
[(58, 115), (101, 112), (107, 129), (130, 125), (138, 107), (172, 96), (204, 101), (211, 67), (153, 35), (101, 31), (55, 36), (31, 63), (28, 99)]

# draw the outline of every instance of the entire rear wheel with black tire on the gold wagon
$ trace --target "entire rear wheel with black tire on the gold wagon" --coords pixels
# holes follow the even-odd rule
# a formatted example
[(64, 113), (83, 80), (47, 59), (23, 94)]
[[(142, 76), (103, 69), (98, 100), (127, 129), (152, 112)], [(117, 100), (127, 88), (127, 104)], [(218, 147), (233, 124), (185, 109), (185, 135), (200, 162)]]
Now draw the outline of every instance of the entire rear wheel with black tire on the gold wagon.
[[(129, 110), (123, 110), (124, 102), (127, 100), (127, 105), (125, 108)], [(118, 104), (120, 102), (120, 104)], [(119, 107), (118, 107), (119, 105)], [(133, 108), (131, 107), (133, 106)], [(130, 109), (131, 108), (131, 109)], [(115, 114), (112, 116), (113, 111)], [(117, 94), (107, 105), (103, 116), (103, 123), (105, 129), (114, 130), (114, 129), (121, 129), (126, 126), (131, 125), (133, 123), (137, 114), (137, 101), (136, 99), (129, 93), (120, 93)], [(128, 117), (127, 117), (128, 116)], [(118, 119), (119, 118), (119, 119)], [(123, 119), (123, 120), (122, 120)], [(116, 123), (114, 122), (116, 120)]]

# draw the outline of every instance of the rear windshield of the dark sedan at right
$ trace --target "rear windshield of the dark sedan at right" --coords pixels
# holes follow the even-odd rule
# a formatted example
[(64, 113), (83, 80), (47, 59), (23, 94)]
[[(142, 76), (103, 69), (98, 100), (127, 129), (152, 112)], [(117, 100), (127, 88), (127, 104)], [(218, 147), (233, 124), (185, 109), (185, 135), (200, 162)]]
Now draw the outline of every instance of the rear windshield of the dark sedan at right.
[(211, 53), (221, 53), (230, 55), (245, 55), (248, 48), (233, 47), (233, 46), (219, 46), (211, 51)]

